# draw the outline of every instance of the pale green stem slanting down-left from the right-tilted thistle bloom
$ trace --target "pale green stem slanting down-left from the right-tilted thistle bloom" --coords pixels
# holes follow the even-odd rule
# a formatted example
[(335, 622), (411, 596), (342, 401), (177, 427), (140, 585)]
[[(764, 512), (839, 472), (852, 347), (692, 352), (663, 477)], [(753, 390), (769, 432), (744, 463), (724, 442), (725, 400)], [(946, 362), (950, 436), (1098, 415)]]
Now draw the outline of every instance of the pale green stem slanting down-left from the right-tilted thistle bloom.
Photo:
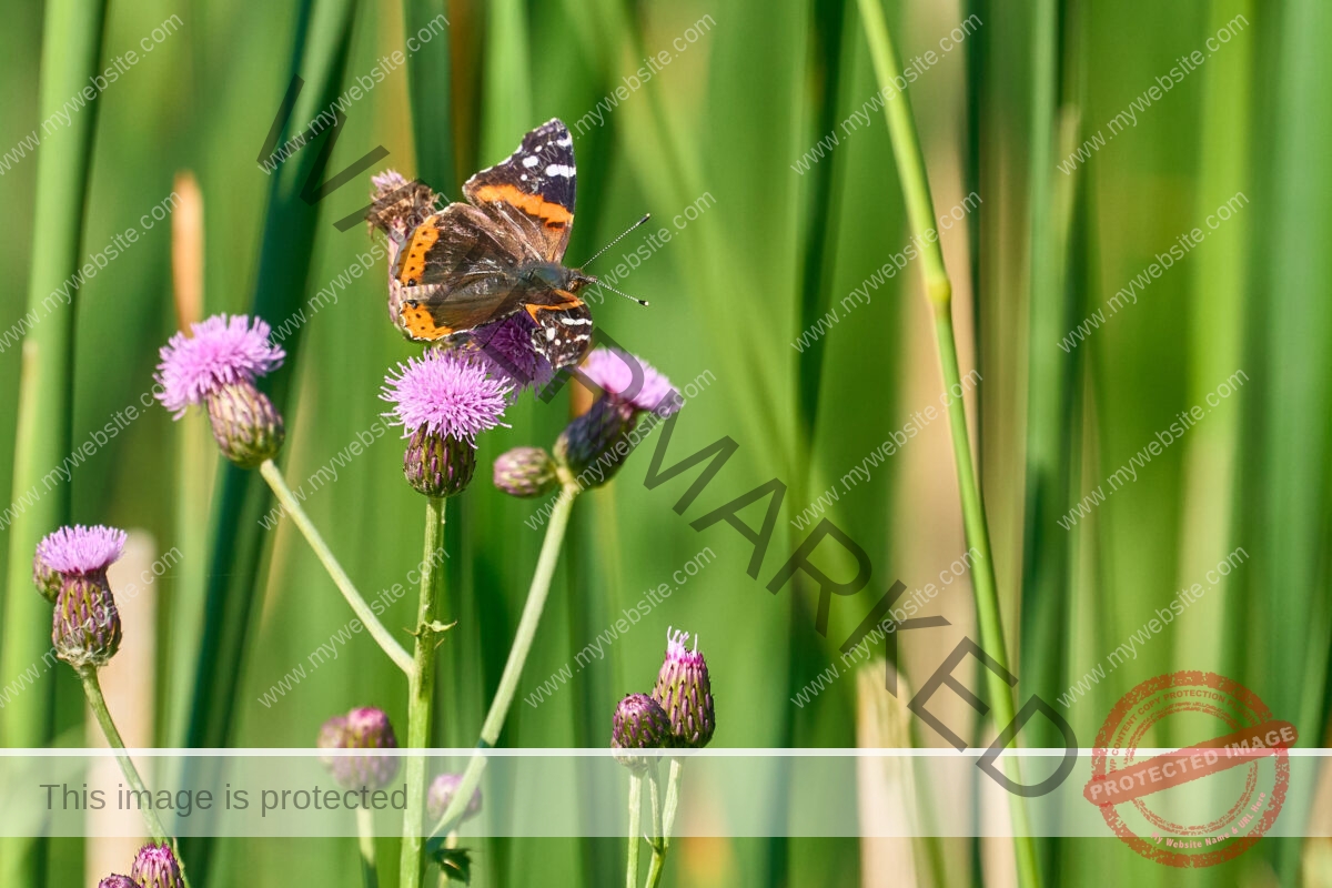
[(453, 793), (453, 800), (445, 809), (440, 823), (434, 825), (430, 835), (438, 835), (448, 829), (454, 829), (462, 821), (462, 812), (472, 799), (472, 792), (481, 783), (481, 772), (486, 767), (484, 750), (496, 744), (500, 739), (500, 730), (509, 715), (509, 706), (513, 703), (514, 691), (518, 690), (518, 679), (522, 676), (522, 667), (527, 662), (531, 651), (531, 642), (537, 636), (537, 626), (541, 623), (541, 611), (546, 607), (546, 596), (550, 594), (550, 578), (555, 572), (555, 562), (559, 559), (559, 545), (565, 538), (565, 527), (569, 526), (569, 511), (573, 509), (574, 498), (578, 495), (578, 483), (571, 478), (565, 479), (563, 490), (555, 499), (555, 507), (550, 511), (550, 521), (546, 525), (546, 538), (541, 543), (541, 555), (537, 558), (537, 571), (531, 576), (531, 587), (527, 590), (527, 603), (522, 607), (522, 618), (518, 620), (518, 631), (513, 636), (513, 646), (509, 648), (509, 659), (503, 666), (503, 675), (500, 676), (500, 687), (490, 702), (490, 711), (481, 726), (481, 739), (477, 740), (477, 751), (468, 762), (468, 768), (462, 772), (462, 783)]

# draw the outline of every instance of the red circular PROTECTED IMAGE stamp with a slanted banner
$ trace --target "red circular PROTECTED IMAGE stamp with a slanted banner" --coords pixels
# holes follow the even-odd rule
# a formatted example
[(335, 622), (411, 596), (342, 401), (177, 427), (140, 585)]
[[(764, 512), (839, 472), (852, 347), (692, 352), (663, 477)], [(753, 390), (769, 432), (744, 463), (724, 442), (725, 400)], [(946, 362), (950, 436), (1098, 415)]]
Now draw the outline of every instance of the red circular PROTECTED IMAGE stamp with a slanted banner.
[[(1139, 752), (1151, 732), (1163, 752)], [(1276, 823), (1291, 781), (1295, 726), (1215, 672), (1148, 679), (1096, 735), (1083, 796), (1148, 860), (1211, 867), (1244, 853)], [(1171, 751), (1173, 750), (1173, 751)]]

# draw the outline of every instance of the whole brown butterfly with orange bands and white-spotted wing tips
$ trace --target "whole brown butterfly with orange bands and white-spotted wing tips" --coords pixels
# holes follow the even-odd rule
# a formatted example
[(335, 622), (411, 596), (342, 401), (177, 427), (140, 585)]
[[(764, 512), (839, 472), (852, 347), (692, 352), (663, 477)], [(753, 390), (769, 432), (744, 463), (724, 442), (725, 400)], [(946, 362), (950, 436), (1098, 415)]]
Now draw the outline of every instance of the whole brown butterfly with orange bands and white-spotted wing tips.
[(593, 332), (578, 292), (597, 280), (563, 265), (574, 222), (569, 128), (558, 118), (537, 126), (462, 193), (466, 202), (428, 216), (398, 250), (398, 326), (437, 341), (526, 312), (533, 350), (557, 370), (577, 363)]

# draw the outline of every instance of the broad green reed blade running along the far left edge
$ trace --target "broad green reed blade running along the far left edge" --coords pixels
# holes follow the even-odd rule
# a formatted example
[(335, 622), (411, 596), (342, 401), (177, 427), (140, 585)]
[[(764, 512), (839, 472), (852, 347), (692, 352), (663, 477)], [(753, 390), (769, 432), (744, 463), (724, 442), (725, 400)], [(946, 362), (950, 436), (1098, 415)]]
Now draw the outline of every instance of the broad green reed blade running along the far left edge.
[[(101, 56), (104, 0), (52, 0), (47, 5), (41, 51), (40, 118), (55, 114), (85, 89)], [(28, 312), (37, 316), (23, 342), (19, 375), (17, 438), (12, 491), (15, 499), (45, 487), (9, 530), (4, 599), (4, 646), (0, 679), (8, 686), (41, 662), (49, 650), (51, 607), (32, 588), (32, 554), (41, 538), (69, 521), (69, 486), (56, 467), (71, 447), (73, 398), (73, 333), (77, 296), (68, 305), (48, 300), (80, 265), (84, 204), (92, 164), (100, 99), (75, 114), (67, 132), (48, 140), (37, 156), (32, 272)], [(49, 317), (48, 308), (53, 309)], [(52, 489), (43, 478), (53, 478)], [(49, 670), (4, 710), (4, 746), (40, 747), (51, 740), (55, 674)], [(7, 843), (0, 884), (36, 888), (43, 877), (44, 843)]]

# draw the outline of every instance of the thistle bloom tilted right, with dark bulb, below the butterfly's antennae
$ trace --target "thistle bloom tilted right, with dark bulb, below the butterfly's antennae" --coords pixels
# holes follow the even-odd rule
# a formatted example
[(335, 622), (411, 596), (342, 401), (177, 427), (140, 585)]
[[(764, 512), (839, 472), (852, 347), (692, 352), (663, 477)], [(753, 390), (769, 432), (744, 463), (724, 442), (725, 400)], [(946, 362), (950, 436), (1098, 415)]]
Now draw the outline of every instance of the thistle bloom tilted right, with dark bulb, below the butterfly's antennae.
[[(651, 411), (665, 419), (679, 410), (681, 399), (670, 379), (627, 351), (595, 349), (582, 370), (602, 394), (559, 434), (555, 461), (581, 486), (597, 487), (619, 471), (638, 445), (638, 418)], [(595, 478), (589, 481), (590, 475)]]

